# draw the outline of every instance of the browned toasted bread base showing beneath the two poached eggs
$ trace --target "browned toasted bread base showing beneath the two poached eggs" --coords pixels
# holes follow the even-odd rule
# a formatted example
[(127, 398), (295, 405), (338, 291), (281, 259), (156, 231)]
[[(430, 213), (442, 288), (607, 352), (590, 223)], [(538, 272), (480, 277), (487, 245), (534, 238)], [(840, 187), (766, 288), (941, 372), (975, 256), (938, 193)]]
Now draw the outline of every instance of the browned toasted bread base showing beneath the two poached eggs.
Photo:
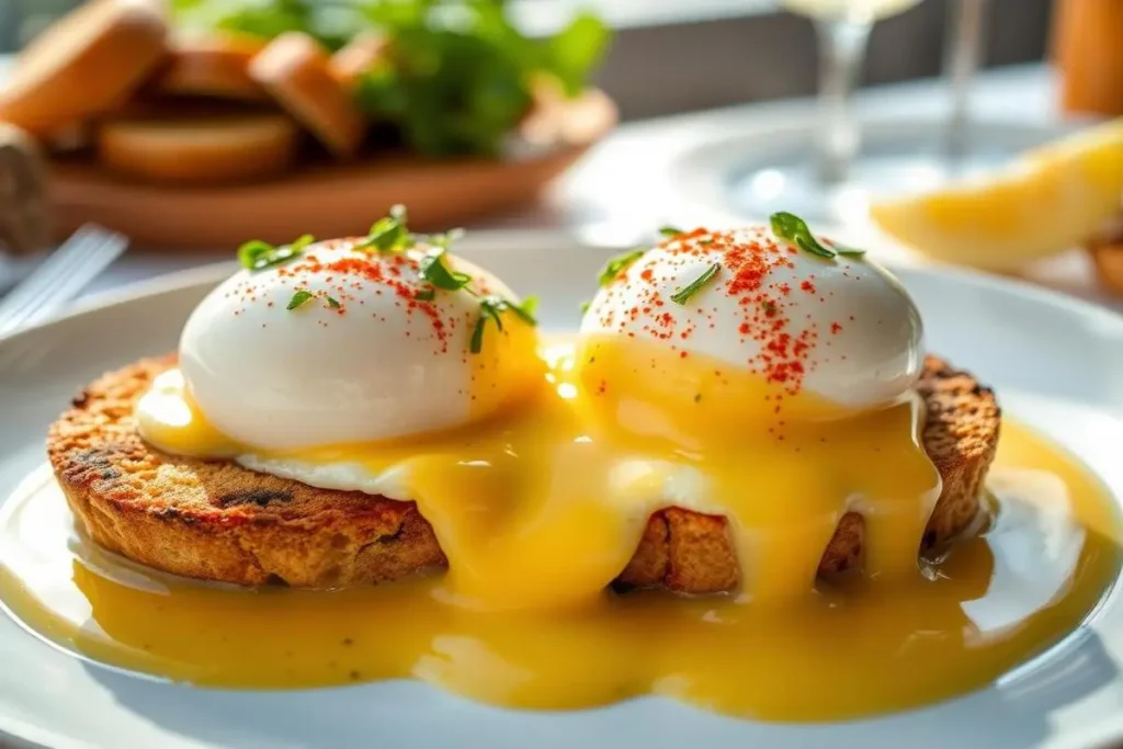
[[(133, 407), (173, 364), (146, 359), (90, 385), (52, 428), (47, 451), (67, 501), (102, 546), (167, 572), (246, 585), (376, 583), (447, 565), (410, 502), (319, 490), (228, 462), (173, 457), (136, 433)], [(924, 444), (943, 477), (925, 546), (960, 532), (978, 512), (994, 459), (999, 413), (970, 375), (929, 357)], [(861, 559), (864, 523), (848, 513), (823, 554), (833, 574)], [(648, 522), (618, 582), (687, 593), (737, 585), (723, 518), (668, 508)]]

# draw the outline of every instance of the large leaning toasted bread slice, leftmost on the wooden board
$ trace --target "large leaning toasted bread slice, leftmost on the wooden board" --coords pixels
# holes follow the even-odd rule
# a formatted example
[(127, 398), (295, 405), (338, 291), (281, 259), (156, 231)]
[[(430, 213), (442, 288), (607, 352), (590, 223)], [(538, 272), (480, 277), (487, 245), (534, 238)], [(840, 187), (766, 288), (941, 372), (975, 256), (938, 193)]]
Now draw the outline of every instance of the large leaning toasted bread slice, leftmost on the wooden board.
[(43, 133), (115, 110), (164, 56), (154, 0), (95, 0), (67, 13), (19, 55), (0, 89), (0, 120)]

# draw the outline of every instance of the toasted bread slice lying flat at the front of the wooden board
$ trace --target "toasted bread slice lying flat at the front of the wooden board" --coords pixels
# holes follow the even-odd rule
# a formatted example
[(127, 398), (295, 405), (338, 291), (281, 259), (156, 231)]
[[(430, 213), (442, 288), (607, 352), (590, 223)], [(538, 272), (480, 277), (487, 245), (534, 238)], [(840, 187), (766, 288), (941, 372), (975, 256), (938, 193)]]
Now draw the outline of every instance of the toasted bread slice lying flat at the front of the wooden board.
[(300, 130), (284, 115), (229, 112), (125, 117), (98, 130), (98, 157), (147, 181), (227, 184), (280, 174)]

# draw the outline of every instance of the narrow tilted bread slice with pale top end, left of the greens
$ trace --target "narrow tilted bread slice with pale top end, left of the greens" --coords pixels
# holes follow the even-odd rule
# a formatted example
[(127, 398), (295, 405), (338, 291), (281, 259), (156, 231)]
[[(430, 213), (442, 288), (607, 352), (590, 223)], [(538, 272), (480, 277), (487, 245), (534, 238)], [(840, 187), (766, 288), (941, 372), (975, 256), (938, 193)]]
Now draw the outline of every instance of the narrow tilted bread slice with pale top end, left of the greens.
[(336, 156), (349, 158), (358, 150), (366, 131), (363, 115), (316, 39), (282, 34), (254, 57), (249, 75)]

